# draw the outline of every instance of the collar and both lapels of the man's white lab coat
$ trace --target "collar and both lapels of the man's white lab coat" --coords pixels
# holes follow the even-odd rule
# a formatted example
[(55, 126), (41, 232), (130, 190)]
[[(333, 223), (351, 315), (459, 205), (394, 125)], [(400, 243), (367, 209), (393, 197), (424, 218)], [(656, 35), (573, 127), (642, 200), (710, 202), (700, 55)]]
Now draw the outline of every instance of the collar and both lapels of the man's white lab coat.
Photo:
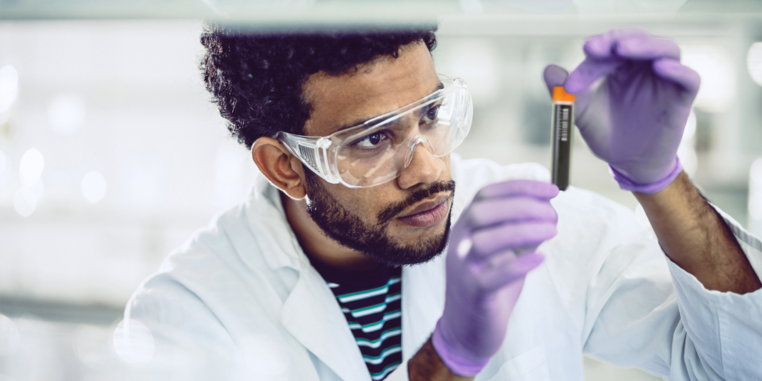
[[(458, 198), (456, 194), (456, 199)], [(453, 205), (453, 217), (460, 203)], [(246, 203), (247, 221), (258, 232), (267, 264), (291, 267), (299, 280), (280, 312), (283, 327), (346, 381), (370, 381), (359, 347), (341, 307), (320, 274), (309, 264), (286, 219), (280, 191), (258, 174)], [(454, 219), (453, 219), (454, 220)], [(261, 233), (261, 234), (260, 234)], [(402, 355), (409, 360), (429, 338), (444, 308), (444, 255), (402, 270)]]

